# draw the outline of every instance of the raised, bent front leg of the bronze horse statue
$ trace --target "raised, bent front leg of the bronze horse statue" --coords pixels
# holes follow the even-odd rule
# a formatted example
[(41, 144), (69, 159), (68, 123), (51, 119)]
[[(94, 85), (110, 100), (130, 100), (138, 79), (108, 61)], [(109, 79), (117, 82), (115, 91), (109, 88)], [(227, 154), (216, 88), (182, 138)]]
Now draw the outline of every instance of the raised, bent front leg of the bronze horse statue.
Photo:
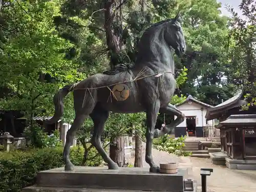
[(178, 126), (185, 120), (185, 115), (172, 104), (168, 104), (166, 107), (160, 108), (159, 112), (175, 115), (177, 116), (177, 118), (172, 123), (164, 126), (162, 130), (156, 129), (154, 133), (154, 138), (161, 137), (165, 134), (170, 134), (176, 126)]

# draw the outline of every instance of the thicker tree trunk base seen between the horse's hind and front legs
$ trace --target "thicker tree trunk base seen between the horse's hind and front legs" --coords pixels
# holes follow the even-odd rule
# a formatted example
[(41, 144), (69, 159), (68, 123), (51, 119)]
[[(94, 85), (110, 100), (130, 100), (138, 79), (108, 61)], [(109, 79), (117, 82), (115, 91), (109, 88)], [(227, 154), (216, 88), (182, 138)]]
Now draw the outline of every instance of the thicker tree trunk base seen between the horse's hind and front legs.
[(119, 167), (124, 166), (124, 138), (118, 136), (110, 145), (110, 158), (118, 164)]

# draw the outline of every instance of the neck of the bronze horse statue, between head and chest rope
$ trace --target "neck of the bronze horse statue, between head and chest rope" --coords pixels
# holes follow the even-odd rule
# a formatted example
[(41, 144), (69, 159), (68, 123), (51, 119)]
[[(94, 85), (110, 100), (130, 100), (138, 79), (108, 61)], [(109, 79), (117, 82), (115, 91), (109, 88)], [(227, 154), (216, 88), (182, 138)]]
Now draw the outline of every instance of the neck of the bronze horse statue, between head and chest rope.
[(135, 68), (147, 67), (156, 72), (174, 73), (174, 57), (164, 39), (164, 27), (141, 39), (138, 49)]

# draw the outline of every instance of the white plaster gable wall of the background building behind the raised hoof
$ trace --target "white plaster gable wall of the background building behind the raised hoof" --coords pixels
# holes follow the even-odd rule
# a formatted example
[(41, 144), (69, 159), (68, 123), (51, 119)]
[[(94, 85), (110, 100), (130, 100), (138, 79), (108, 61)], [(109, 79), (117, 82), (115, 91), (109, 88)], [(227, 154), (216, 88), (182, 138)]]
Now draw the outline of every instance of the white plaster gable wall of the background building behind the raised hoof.
[[(203, 111), (201, 110), (203, 108)], [(213, 120), (207, 121), (205, 115), (207, 112), (207, 108), (205, 108), (203, 105), (200, 105), (198, 103), (192, 102), (191, 104), (188, 104), (188, 102), (177, 106), (177, 109), (179, 109), (182, 113), (185, 114), (185, 116), (196, 116), (196, 126), (207, 126), (212, 125)], [(175, 117), (177, 118), (177, 117)], [(186, 126), (186, 119), (178, 125), (178, 127), (185, 127)]]

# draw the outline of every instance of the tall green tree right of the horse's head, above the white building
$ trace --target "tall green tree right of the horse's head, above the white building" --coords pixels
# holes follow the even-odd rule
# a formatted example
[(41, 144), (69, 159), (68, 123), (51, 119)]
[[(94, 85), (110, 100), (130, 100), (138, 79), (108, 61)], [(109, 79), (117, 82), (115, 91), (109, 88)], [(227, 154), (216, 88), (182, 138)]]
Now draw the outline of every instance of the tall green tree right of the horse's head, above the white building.
[[(234, 86), (225, 79), (228, 17), (221, 15), (216, 0), (194, 0), (183, 10), (187, 44), (186, 57), (180, 65), (188, 69), (181, 93), (216, 105), (232, 96)], [(179, 67), (179, 68), (181, 68)]]

